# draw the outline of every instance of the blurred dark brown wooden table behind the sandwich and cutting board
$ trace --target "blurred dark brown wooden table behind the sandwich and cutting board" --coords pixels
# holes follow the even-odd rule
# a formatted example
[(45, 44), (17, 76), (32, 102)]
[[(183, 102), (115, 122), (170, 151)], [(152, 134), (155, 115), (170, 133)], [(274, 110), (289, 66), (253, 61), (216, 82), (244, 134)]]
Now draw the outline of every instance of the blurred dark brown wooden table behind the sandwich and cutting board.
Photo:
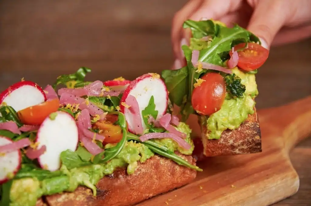
[[(45, 86), (80, 66), (89, 80), (133, 79), (173, 64), (171, 20), (187, 0), (0, 1), (0, 91), (21, 77)], [(311, 39), (271, 49), (257, 74), (257, 108), (311, 94)], [(290, 158), (298, 193), (275, 205), (311, 205), (311, 138)]]

